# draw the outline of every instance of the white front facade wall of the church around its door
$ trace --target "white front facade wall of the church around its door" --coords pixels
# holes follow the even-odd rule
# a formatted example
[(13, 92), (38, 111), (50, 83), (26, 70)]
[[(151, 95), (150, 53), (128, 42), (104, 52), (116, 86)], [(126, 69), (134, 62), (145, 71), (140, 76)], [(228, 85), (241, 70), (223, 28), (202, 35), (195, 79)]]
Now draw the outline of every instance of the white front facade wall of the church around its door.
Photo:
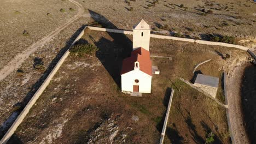
[[(135, 83), (135, 80), (139, 80)], [(125, 92), (133, 92), (133, 85), (139, 85), (139, 93), (151, 93), (152, 76), (141, 70), (132, 70), (121, 75), (121, 88)]]

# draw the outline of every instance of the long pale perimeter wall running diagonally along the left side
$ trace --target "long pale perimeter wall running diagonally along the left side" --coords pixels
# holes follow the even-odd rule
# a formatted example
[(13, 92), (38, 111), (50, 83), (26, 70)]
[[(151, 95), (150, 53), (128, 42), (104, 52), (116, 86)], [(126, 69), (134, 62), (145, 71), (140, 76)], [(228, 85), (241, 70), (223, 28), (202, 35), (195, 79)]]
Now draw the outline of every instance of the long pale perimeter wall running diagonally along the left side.
[[(86, 28), (86, 27), (85, 27)], [(72, 45), (69, 47), (69, 49), (77, 42), (82, 36), (84, 35), (84, 30), (78, 35), (78, 37), (73, 41)], [(48, 75), (48, 77), (44, 80), (43, 84), (38, 88), (37, 92), (33, 95), (31, 100), (28, 102), (24, 110), (20, 113), (19, 117), (15, 120), (13, 125), (11, 125), (10, 129), (7, 131), (7, 133), (3, 136), (0, 143), (7, 143), (10, 137), (14, 134), (15, 130), (19, 127), (19, 125), (22, 123), (23, 119), (26, 117), (27, 113), (30, 112), (31, 107), (36, 103), (37, 99), (40, 97), (40, 95), (44, 92), (44, 89), (49, 85), (51, 79), (53, 79), (53, 76), (57, 73), (57, 70), (61, 67), (62, 63), (65, 61), (65, 59), (69, 55), (69, 50), (67, 50), (64, 55), (61, 57), (60, 61), (55, 65), (54, 69), (51, 71), (51, 73)]]

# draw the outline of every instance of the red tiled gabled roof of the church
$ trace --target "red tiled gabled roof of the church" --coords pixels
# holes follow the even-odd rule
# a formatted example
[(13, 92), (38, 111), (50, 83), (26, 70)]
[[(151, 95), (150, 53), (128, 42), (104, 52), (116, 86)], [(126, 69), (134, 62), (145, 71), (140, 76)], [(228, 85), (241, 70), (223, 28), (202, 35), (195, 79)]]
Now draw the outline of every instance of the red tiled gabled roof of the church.
[(131, 57), (127, 57), (123, 60), (121, 75), (134, 70), (135, 62), (139, 62), (139, 70), (152, 76), (152, 62), (150, 60), (150, 53), (142, 47), (132, 51)]

